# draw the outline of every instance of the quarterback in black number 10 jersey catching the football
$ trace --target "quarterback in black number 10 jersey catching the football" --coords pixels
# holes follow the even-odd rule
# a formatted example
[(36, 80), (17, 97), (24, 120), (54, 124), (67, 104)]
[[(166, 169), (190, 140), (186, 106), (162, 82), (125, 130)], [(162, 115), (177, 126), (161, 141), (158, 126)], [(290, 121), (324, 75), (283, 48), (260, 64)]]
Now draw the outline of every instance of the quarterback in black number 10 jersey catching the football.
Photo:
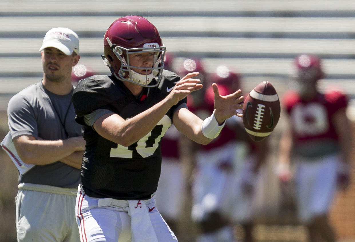
[(195, 142), (218, 136), (237, 115), (241, 91), (220, 96), (212, 84), (215, 111), (205, 120), (186, 107), (202, 88), (197, 72), (178, 77), (163, 70), (165, 46), (147, 19), (116, 19), (104, 35), (104, 63), (111, 75), (94, 75), (76, 86), (72, 102), (83, 124), (86, 150), (76, 216), (81, 241), (177, 241), (155, 205), (160, 140), (173, 123)]

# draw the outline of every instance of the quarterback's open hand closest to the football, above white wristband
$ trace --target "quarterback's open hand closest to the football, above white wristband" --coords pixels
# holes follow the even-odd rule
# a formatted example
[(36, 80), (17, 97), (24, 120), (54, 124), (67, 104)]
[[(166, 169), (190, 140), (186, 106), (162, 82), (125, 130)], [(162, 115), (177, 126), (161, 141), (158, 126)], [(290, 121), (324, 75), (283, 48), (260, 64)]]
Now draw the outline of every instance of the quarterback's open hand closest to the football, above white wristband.
[(237, 109), (241, 109), (243, 107), (244, 96), (242, 96), (242, 91), (239, 89), (236, 92), (221, 96), (219, 95), (218, 85), (212, 84), (213, 92), (214, 92), (214, 108), (216, 112), (214, 116), (217, 119), (219, 124), (222, 124), (225, 119), (236, 115), (238, 117), (242, 117), (242, 114), (237, 112)]

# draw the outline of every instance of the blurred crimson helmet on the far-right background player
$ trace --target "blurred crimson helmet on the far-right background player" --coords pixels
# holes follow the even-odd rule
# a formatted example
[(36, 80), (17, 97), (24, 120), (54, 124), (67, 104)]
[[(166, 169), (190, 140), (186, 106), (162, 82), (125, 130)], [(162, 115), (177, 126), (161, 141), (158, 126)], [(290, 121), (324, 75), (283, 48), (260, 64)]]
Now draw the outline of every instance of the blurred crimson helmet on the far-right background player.
[(321, 59), (315, 55), (302, 54), (295, 58), (296, 79), (302, 82), (316, 82), (324, 77)]

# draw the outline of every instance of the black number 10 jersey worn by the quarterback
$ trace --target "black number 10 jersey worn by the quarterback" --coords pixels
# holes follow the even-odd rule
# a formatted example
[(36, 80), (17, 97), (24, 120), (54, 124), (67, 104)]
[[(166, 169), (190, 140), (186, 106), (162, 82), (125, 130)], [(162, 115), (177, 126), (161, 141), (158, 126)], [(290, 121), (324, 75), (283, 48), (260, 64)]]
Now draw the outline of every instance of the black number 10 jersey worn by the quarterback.
[(171, 125), (174, 111), (187, 107), (186, 99), (170, 108), (151, 132), (128, 147), (100, 136), (84, 123), (83, 116), (108, 109), (124, 119), (132, 118), (163, 100), (178, 80), (175, 73), (164, 70), (159, 85), (146, 88), (139, 99), (113, 76), (94, 75), (78, 83), (72, 101), (87, 143), (81, 168), (84, 193), (98, 198), (137, 200), (148, 199), (157, 190), (162, 161), (160, 141)]

